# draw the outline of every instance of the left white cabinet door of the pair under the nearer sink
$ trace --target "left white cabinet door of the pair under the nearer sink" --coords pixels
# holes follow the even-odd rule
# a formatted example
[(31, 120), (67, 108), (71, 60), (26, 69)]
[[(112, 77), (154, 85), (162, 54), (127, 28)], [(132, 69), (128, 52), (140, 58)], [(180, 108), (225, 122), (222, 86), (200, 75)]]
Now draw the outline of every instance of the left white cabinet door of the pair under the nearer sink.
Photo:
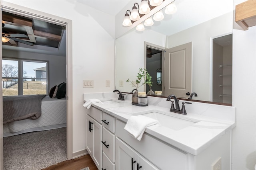
[(136, 170), (138, 157), (135, 150), (116, 138), (116, 170)]

